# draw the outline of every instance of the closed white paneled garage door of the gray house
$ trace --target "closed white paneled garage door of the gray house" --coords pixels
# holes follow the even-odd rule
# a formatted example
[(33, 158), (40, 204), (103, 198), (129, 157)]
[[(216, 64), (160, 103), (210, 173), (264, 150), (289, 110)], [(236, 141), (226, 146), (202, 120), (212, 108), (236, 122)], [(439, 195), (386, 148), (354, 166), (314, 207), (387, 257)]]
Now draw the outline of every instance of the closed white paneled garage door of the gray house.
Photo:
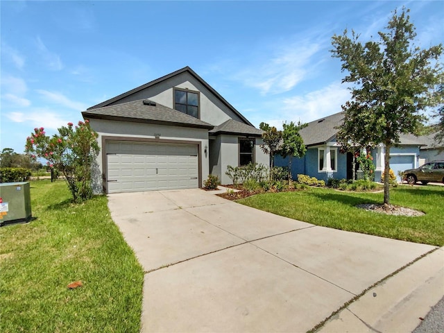
[(198, 187), (196, 144), (106, 144), (108, 193)]

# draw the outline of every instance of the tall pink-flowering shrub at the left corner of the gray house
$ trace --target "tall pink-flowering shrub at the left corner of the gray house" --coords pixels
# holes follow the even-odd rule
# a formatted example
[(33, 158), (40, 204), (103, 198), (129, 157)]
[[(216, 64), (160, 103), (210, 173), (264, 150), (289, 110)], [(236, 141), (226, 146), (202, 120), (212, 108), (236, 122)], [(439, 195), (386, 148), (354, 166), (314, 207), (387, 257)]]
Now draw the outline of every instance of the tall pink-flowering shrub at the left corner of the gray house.
[(97, 133), (89, 121), (79, 121), (77, 126), (58, 128), (58, 134), (49, 137), (44, 128), (34, 128), (26, 139), (26, 152), (33, 159), (42, 157), (49, 167), (56, 169), (67, 182), (74, 201), (92, 197), (91, 171), (94, 158), (99, 153)]

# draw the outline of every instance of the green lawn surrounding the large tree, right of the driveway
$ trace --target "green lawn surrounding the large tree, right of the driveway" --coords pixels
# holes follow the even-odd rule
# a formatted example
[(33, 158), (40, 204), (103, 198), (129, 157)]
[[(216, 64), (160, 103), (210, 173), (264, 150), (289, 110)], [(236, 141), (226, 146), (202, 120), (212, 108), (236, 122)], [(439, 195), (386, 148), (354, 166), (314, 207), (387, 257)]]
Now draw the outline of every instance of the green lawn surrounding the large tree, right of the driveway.
[(329, 228), (444, 246), (444, 187), (400, 186), (391, 189), (391, 204), (425, 212), (425, 216), (393, 216), (355, 207), (383, 203), (383, 193), (350, 193), (332, 189), (258, 194), (238, 203), (291, 219)]

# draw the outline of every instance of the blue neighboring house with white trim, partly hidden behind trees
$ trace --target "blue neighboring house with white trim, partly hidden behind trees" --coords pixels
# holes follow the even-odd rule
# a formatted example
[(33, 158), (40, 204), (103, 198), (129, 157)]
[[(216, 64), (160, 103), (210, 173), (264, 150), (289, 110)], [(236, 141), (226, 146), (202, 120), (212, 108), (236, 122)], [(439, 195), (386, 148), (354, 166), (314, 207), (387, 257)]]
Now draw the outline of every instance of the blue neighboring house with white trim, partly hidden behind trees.
[[(307, 146), (307, 153), (302, 158), (293, 157), (291, 161), (291, 175), (297, 179), (302, 173), (319, 180), (328, 178), (352, 179), (353, 155), (341, 153), (341, 146), (336, 142), (336, 129), (343, 123), (343, 112), (332, 114), (329, 117), (311, 121), (308, 126), (300, 130), (300, 135)], [(398, 171), (420, 167), (420, 148), (427, 146), (426, 140), (414, 135), (402, 135), (398, 147), (390, 149), (390, 167), (398, 176)], [(375, 164), (375, 181), (381, 181), (384, 172), (385, 146), (379, 144), (371, 152)], [(287, 167), (289, 157), (275, 155), (276, 167)], [(358, 169), (358, 168), (356, 168)], [(361, 171), (357, 171), (357, 178)]]

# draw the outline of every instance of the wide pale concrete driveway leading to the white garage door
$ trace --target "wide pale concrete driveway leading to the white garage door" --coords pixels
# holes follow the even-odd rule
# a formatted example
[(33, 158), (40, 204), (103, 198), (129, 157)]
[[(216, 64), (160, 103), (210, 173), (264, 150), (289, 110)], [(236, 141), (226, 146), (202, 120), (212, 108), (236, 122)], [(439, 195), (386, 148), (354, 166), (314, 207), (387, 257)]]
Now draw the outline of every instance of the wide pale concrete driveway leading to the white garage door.
[(435, 249), (287, 219), (202, 189), (108, 199), (146, 271), (143, 332), (306, 332)]

